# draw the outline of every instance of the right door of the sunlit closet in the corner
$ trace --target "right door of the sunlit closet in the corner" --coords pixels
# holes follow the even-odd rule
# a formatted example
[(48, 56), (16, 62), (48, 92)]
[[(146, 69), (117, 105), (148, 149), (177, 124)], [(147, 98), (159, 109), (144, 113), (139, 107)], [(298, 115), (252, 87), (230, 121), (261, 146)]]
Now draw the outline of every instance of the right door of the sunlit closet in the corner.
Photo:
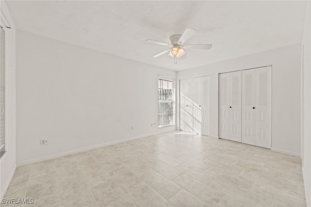
[(193, 78), (193, 131), (209, 134), (209, 76)]

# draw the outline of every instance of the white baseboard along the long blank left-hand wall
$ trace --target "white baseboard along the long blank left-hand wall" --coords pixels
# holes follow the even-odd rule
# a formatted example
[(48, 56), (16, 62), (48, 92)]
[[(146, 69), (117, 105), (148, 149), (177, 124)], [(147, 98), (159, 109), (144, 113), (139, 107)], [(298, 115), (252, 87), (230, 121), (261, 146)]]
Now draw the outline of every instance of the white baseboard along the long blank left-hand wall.
[(126, 138), (126, 139), (121, 139), (121, 140), (117, 140), (117, 141), (106, 142), (106, 143), (103, 143), (103, 144), (93, 145), (93, 146), (90, 146), (90, 147), (85, 147), (85, 148), (80, 148), (80, 149), (76, 149), (76, 150), (71, 150), (71, 151), (67, 151), (67, 152), (63, 152), (63, 153), (59, 153), (59, 154), (48, 155), (48, 156), (43, 156), (43, 157), (39, 157), (39, 158), (35, 158), (35, 159), (29, 159), (29, 160), (20, 161), (20, 162), (17, 162), (16, 165), (17, 165), (17, 167), (23, 166), (23, 165), (29, 165), (29, 164), (33, 164), (33, 163), (36, 163), (36, 162), (41, 162), (41, 161), (45, 161), (45, 160), (49, 160), (49, 159), (54, 159), (54, 158), (61, 157), (61, 156), (66, 156), (66, 155), (72, 155), (72, 154), (75, 154), (75, 153), (80, 153), (80, 152), (84, 152), (84, 151), (87, 151), (87, 150), (92, 150), (92, 149), (99, 148), (99, 147), (105, 147), (105, 146), (109, 146), (109, 145), (113, 145), (113, 144), (118, 144), (118, 143), (121, 143), (121, 142), (124, 142), (124, 141), (129, 141), (129, 140), (133, 140), (133, 139), (149, 137), (149, 136), (153, 136), (153, 135), (156, 135), (156, 134), (162, 134), (162, 133), (163, 132), (152, 133), (152, 134), (147, 134), (147, 135), (141, 135), (141, 136), (134, 137), (134, 138)]

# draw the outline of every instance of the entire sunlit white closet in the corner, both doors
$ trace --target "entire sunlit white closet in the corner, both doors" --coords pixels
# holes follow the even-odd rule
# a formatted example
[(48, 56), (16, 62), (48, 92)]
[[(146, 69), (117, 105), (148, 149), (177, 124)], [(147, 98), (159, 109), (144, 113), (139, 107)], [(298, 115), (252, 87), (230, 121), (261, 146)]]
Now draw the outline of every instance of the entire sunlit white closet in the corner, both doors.
[(209, 76), (180, 80), (179, 128), (209, 134)]

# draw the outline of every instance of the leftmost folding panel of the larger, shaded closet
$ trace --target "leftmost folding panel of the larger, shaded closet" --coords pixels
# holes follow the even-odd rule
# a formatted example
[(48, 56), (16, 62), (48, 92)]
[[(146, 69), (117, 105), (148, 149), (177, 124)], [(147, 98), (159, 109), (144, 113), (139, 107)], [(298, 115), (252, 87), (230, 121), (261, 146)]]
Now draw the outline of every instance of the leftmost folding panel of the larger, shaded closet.
[(230, 139), (230, 73), (219, 74), (219, 138)]

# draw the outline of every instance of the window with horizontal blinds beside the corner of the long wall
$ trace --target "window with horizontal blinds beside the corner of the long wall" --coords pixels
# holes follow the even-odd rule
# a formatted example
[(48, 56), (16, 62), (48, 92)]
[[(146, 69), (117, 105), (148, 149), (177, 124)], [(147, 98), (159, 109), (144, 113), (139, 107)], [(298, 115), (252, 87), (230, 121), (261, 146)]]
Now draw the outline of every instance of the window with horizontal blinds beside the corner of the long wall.
[(175, 97), (172, 78), (158, 78), (158, 126), (175, 124)]

